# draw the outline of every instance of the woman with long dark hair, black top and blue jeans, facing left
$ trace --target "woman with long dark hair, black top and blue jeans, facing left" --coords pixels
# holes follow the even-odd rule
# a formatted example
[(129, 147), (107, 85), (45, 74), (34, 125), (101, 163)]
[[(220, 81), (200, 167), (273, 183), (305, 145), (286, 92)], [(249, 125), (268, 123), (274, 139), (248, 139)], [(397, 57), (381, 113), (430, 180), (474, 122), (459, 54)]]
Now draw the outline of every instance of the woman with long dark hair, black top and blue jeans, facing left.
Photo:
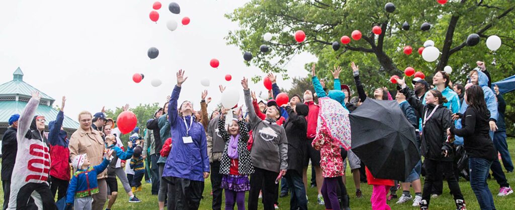
[(469, 155), (470, 186), (481, 209), (495, 209), (492, 194), (486, 182), (490, 166), (497, 158), (497, 152), (489, 135), (490, 111), (486, 106), (481, 87), (473, 85), (466, 90), (465, 94), (465, 102), (469, 107), (465, 113), (458, 113), (462, 128), (452, 126), (447, 129), (447, 134), (464, 138), (465, 150)]

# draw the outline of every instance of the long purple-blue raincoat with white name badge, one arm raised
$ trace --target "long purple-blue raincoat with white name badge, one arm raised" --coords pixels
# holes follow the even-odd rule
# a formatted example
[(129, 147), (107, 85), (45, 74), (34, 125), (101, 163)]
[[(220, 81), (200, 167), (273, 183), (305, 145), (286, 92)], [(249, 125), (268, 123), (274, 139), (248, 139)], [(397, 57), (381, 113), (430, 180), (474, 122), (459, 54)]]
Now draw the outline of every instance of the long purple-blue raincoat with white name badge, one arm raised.
[[(181, 87), (175, 86), (168, 104), (168, 121), (171, 130), (171, 151), (166, 159), (163, 177), (177, 177), (193, 181), (204, 181), (203, 173), (209, 172), (208, 141), (204, 126), (194, 116), (180, 117), (177, 100)], [(186, 135), (186, 126), (190, 126)], [(184, 123), (186, 121), (186, 123)], [(187, 124), (187, 125), (186, 125)], [(185, 144), (183, 137), (192, 137), (193, 143)]]

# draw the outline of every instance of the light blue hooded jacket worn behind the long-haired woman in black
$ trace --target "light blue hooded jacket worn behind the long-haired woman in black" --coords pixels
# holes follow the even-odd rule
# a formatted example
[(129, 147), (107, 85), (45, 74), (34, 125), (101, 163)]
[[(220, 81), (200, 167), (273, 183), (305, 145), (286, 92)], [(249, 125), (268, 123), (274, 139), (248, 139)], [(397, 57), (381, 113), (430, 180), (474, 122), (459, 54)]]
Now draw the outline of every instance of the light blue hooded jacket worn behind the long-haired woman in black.
[[(490, 121), (497, 121), (497, 116), (499, 116), (499, 113), (497, 112), (497, 101), (495, 101), (495, 93), (493, 93), (492, 89), (488, 87), (488, 77), (483, 71), (480, 71), (478, 68), (474, 69), (477, 72), (477, 84), (483, 89), (483, 93), (485, 94), (485, 102), (486, 107), (490, 111)], [(463, 101), (463, 104), (461, 104), (461, 109), (459, 110), (460, 113), (465, 113), (467, 110), (467, 107), (469, 105)], [(461, 119), (458, 119), (456, 121), (456, 128), (461, 128)], [(490, 131), (490, 138), (493, 139), (493, 132)], [(455, 136), (454, 144), (463, 144), (463, 138)]]

